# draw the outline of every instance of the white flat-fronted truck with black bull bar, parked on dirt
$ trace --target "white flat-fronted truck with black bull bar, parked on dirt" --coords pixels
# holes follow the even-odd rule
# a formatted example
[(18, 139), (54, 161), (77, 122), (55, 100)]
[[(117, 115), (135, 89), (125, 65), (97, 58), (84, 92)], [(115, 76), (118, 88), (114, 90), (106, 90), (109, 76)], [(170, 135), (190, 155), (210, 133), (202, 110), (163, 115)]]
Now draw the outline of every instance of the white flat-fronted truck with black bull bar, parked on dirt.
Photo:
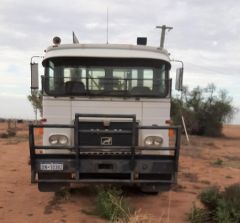
[[(180, 127), (169, 125), (169, 53), (145, 44), (61, 44), (56, 37), (45, 50), (45, 122), (29, 126), (31, 180), (40, 191), (84, 182), (158, 192), (176, 182)], [(36, 63), (31, 71), (37, 90)]]

